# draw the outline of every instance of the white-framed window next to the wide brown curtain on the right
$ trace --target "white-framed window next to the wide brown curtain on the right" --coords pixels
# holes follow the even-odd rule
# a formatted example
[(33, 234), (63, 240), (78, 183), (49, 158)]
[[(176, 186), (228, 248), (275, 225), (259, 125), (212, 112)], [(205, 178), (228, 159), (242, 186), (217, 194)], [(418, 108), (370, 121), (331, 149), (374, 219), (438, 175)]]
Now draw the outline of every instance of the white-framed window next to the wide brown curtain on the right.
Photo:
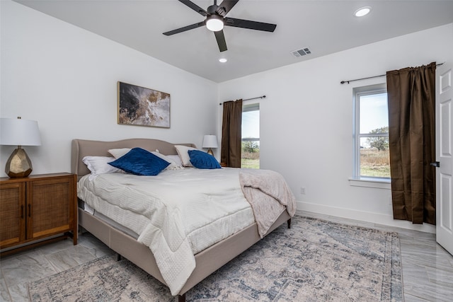
[(354, 88), (354, 179), (389, 180), (389, 108), (385, 84)]

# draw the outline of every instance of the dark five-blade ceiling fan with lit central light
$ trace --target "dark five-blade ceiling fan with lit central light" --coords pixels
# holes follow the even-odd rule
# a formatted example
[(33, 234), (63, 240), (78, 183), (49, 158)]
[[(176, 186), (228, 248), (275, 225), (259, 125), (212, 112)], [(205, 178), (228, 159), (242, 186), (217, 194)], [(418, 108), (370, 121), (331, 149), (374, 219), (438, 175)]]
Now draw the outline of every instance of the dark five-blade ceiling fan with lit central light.
[(179, 0), (186, 6), (192, 8), (200, 15), (205, 16), (205, 21), (195, 23), (192, 25), (185, 26), (183, 28), (178, 28), (176, 30), (170, 30), (164, 35), (174, 35), (176, 33), (183, 33), (186, 30), (191, 30), (194, 28), (199, 28), (201, 26), (206, 26), (208, 30), (214, 32), (215, 38), (217, 40), (217, 45), (219, 45), (219, 50), (224, 52), (227, 50), (226, 48), (226, 41), (224, 36), (224, 25), (233, 26), (236, 28), (248, 28), (251, 30), (263, 30), (268, 32), (273, 32), (277, 25), (270, 24), (270, 23), (263, 23), (263, 22), (256, 22), (256, 21), (249, 21), (243, 19), (236, 19), (236, 18), (228, 18), (226, 14), (229, 13), (231, 8), (238, 3), (239, 0), (224, 0), (220, 5), (217, 5), (217, 1), (214, 0), (214, 4), (207, 8), (205, 11), (197, 4), (194, 4), (192, 1), (189, 0)]

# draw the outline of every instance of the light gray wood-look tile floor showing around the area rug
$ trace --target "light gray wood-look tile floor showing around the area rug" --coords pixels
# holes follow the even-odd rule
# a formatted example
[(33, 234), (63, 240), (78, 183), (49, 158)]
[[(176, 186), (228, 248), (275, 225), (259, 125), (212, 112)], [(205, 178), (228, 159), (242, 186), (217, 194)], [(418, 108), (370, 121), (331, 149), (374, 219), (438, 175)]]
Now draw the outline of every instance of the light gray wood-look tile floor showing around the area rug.
[[(298, 214), (398, 232), (405, 301), (453, 301), (453, 256), (435, 242), (435, 234), (322, 214)], [(78, 245), (72, 245), (71, 240), (62, 240), (2, 257), (0, 301), (29, 301), (27, 282), (57, 274), (108, 254), (113, 254), (113, 251), (91, 234), (84, 233), (79, 236)]]

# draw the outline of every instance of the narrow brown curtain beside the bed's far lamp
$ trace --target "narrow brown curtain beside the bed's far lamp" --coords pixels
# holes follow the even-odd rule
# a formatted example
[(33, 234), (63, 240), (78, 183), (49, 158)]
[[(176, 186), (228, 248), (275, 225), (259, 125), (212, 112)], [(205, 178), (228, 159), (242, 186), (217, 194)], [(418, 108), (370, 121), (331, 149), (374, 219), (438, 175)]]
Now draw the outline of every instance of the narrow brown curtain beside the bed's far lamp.
[(220, 161), (241, 168), (242, 100), (224, 102)]

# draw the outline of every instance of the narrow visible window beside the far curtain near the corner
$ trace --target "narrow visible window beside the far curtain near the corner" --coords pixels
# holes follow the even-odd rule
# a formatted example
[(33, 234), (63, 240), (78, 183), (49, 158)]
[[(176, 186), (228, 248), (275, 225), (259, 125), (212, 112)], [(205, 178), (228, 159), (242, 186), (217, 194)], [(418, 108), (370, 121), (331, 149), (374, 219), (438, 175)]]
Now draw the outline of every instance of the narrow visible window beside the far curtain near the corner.
[(260, 168), (260, 104), (242, 106), (241, 168)]

